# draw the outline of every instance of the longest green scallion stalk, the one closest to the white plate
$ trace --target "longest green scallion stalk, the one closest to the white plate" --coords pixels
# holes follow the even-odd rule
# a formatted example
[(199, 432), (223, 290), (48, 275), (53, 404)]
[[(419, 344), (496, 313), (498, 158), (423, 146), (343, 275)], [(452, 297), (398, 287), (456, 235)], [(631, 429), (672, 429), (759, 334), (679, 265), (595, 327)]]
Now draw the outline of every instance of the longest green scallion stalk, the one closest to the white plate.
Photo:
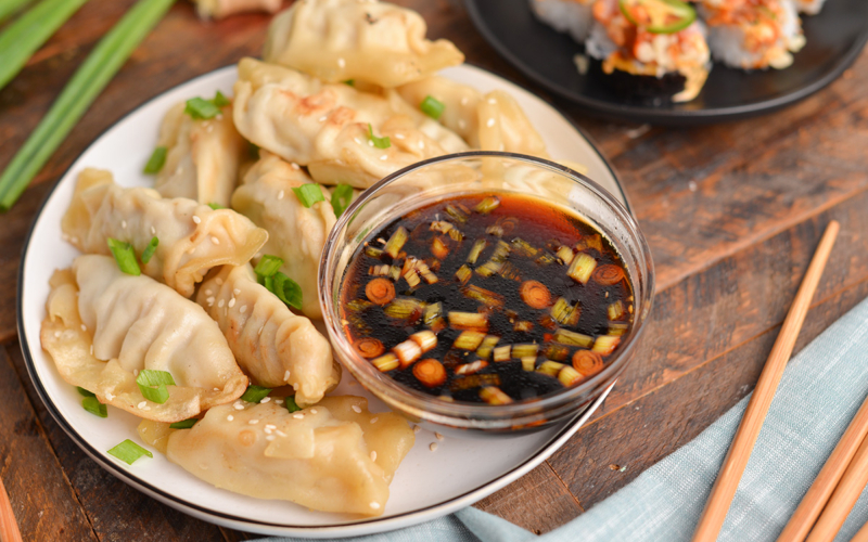
[[(139, 0), (100, 40), (0, 176), (0, 209), (9, 209), (18, 199), (34, 176), (173, 3), (175, 0)], [(17, 48), (18, 43), (14, 47)]]

